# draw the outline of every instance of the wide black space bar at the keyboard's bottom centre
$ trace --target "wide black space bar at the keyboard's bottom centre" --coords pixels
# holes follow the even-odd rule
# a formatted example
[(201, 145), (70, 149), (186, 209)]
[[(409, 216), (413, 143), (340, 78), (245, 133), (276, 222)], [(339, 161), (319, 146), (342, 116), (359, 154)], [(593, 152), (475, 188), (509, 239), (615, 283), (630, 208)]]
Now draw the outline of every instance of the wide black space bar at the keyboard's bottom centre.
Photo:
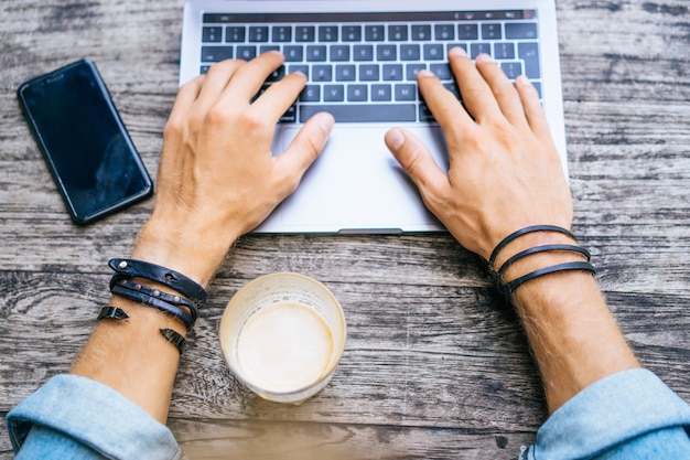
[(300, 106), (300, 122), (305, 122), (312, 115), (327, 111), (341, 122), (367, 121), (417, 121), (414, 104), (314, 104)]

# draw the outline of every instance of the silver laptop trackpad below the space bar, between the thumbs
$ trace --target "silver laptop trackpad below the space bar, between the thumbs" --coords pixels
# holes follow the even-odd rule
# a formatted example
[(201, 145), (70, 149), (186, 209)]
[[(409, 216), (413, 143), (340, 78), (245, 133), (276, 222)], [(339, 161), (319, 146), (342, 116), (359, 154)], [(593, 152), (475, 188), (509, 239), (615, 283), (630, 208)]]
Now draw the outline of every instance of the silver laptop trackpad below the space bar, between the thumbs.
[[(438, 226), (417, 186), (386, 147), (387, 129), (336, 127), (298, 191), (281, 205), (281, 224), (287, 229), (312, 232), (419, 231)], [(287, 128), (281, 132), (283, 148), (297, 131)], [(411, 131), (429, 147), (439, 165), (448, 170), (441, 130)]]

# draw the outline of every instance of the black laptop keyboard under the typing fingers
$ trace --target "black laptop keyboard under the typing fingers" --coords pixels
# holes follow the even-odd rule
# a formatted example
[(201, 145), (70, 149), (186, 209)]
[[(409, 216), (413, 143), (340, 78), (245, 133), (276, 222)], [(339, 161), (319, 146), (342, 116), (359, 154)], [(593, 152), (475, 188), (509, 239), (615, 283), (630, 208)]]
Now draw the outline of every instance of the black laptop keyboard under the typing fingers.
[(284, 65), (261, 92), (287, 73), (308, 77), (280, 122), (301, 124), (324, 110), (339, 122), (434, 122), (418, 93), (417, 72), (433, 72), (460, 98), (446, 53), (462, 46), (472, 57), (493, 56), (510, 79), (526, 75), (541, 94), (537, 35), (533, 10), (205, 13), (200, 73), (218, 61), (276, 50)]

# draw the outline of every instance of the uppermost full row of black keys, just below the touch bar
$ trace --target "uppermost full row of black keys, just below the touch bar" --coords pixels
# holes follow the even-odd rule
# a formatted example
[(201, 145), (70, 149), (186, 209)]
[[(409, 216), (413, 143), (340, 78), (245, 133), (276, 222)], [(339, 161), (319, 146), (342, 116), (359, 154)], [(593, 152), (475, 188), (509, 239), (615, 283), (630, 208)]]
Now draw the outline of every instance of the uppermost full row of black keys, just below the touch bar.
[(407, 42), (535, 40), (536, 22), (389, 25), (207, 25), (204, 43)]

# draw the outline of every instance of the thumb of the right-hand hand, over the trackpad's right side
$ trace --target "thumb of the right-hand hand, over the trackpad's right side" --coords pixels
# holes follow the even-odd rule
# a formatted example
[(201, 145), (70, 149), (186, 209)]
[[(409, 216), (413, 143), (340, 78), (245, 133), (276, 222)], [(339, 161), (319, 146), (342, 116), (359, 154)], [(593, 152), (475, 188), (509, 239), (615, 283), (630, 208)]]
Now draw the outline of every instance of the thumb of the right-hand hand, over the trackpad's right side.
[(386, 132), (385, 141), (388, 150), (417, 184), (428, 206), (435, 201), (434, 197), (445, 195), (450, 186), (448, 175), (436, 164), (422, 141), (399, 128)]

